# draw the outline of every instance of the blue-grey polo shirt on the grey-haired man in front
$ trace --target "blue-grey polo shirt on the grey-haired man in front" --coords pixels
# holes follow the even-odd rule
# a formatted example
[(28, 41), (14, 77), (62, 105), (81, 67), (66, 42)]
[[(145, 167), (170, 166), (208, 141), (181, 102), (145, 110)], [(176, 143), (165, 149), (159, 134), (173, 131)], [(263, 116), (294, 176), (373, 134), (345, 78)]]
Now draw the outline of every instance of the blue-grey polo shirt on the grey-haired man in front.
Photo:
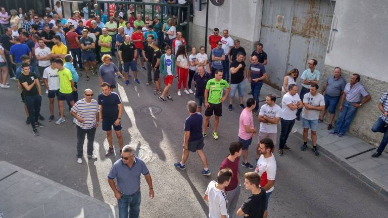
[(132, 168), (128, 167), (121, 158), (113, 163), (108, 178), (112, 180), (116, 178), (117, 190), (123, 194), (130, 195), (137, 192), (140, 188), (140, 174), (145, 176), (149, 173), (146, 163), (135, 156)]

